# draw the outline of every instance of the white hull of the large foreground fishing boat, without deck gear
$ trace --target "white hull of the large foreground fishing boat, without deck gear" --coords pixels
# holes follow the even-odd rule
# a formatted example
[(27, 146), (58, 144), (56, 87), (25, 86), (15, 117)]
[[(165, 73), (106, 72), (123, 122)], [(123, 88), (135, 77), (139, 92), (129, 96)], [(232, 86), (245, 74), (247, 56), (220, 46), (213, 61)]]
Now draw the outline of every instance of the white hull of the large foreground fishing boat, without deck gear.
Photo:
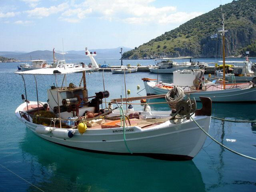
[[(168, 113), (170, 112), (166, 112), (166, 114)], [(54, 131), (67, 132), (73, 129), (50, 128), (51, 131), (49, 132), (49, 127), (34, 124), (22, 118), (18, 108), (16, 116), (36, 135), (45, 140), (70, 148), (97, 153), (141, 155), (164, 160), (191, 160), (198, 154), (206, 140), (206, 135), (191, 119), (180, 124), (166, 121), (154, 127), (143, 129), (138, 126), (126, 127), (125, 142), (121, 127), (88, 129), (82, 135), (77, 129), (74, 129), (74, 136), (65, 138), (54, 134)], [(195, 116), (194, 119), (206, 132), (209, 131), (210, 116)], [(38, 128), (40, 126), (42, 128)], [(44, 128), (45, 132), (42, 131)], [(40, 130), (40, 133), (36, 130)]]

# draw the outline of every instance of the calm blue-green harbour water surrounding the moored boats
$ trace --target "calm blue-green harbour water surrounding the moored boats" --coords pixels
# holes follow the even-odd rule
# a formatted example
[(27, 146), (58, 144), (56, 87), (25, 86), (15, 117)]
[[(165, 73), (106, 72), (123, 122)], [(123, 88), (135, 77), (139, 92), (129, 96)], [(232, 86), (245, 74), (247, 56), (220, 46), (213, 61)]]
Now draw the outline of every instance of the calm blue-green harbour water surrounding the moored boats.
[[(88, 60), (85, 61), (88, 63)], [(104, 60), (97, 62), (103, 64)], [(123, 62), (124, 65), (154, 64), (152, 60)], [(119, 65), (120, 60), (106, 60), (106, 64), (108, 63)], [(39, 138), (14, 114), (22, 102), (20, 95), (24, 94), (22, 78), (14, 74), (17, 65), (18, 63), (0, 63), (1, 192), (37, 192), (40, 191), (38, 188), (47, 192), (256, 191), (256, 162), (221, 148), (209, 138), (198, 155), (186, 162), (169, 162), (143, 156), (95, 154), (66, 148)], [(131, 90), (128, 96), (146, 95), (142, 90), (144, 86), (141, 78), (156, 76), (147, 72), (126, 74), (126, 87)], [(80, 73), (72, 74), (68, 83), (78, 85), (80, 78)], [(161, 74), (159, 78), (163, 82), (172, 81), (169, 74)], [(28, 99), (36, 100), (34, 77), (26, 76), (25, 79)], [(46, 101), (46, 88), (53, 85), (55, 79), (42, 76), (37, 80), (39, 100)], [(86, 82), (89, 96), (102, 91), (102, 72), (86, 74)], [(104, 82), (106, 90), (110, 91), (110, 98), (125, 96), (123, 74), (104, 72)], [(139, 94), (137, 85), (142, 90)], [(134, 107), (142, 108), (140, 105)], [(152, 105), (151, 109), (169, 110), (169, 107), (161, 104)], [(255, 120), (255, 113), (256, 103), (213, 103), (212, 109), (212, 116), (232, 120)], [(256, 157), (256, 123), (212, 119), (210, 134), (229, 148)], [(229, 142), (227, 139), (234, 139), (236, 142)]]

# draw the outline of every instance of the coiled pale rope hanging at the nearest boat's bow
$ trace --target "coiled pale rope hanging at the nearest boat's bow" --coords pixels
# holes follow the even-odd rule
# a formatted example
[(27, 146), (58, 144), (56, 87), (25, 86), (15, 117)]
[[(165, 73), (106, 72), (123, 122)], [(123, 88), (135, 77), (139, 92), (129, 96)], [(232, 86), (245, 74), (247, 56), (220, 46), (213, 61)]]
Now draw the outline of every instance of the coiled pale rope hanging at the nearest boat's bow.
[(172, 110), (175, 109), (176, 104), (184, 98), (184, 90), (178, 86), (174, 86), (165, 96), (165, 100)]

